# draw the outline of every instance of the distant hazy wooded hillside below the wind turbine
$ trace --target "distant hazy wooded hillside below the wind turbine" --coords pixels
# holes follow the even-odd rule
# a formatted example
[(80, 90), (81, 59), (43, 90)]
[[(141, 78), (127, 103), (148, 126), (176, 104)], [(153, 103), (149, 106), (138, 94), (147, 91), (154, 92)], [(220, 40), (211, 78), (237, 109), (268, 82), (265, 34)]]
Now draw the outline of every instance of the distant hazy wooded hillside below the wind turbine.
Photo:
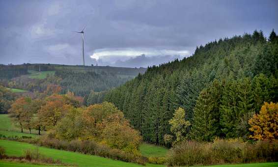
[[(41, 71), (39, 71), (41, 70)], [(106, 91), (144, 73), (145, 68), (74, 66), (58, 64), (0, 65), (0, 83), (5, 87), (44, 92), (48, 86), (61, 87), (76, 95)]]

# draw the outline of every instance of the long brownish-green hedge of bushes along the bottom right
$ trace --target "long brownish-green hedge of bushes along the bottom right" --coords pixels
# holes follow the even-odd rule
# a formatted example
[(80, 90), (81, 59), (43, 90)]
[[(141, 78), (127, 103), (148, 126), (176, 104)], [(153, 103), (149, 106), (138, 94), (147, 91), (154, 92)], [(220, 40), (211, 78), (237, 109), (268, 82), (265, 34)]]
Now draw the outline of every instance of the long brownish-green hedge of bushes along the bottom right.
[(225, 163), (277, 162), (278, 140), (244, 142), (215, 139), (213, 142), (182, 141), (170, 149), (169, 166), (217, 165)]

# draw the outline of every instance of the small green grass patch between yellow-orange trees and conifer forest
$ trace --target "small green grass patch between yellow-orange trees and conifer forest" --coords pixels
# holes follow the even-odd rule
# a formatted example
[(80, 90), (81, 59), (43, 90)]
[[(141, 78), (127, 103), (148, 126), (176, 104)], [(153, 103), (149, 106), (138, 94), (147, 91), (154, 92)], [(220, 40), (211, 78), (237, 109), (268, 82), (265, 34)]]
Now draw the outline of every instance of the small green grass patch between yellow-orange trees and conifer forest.
[(147, 143), (142, 143), (139, 150), (146, 157), (165, 157), (168, 152), (166, 147)]

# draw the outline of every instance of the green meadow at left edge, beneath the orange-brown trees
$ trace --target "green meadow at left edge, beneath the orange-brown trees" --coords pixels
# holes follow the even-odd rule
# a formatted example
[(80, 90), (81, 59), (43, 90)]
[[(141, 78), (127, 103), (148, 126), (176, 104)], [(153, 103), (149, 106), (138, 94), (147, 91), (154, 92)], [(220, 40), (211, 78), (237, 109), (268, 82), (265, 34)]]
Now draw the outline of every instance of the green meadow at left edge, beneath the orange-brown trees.
[(32, 133), (35, 134), (29, 134), (29, 130), (24, 129), (24, 133), (21, 133), (21, 130), (17, 127), (15, 127), (12, 123), (10, 118), (8, 117), (8, 114), (0, 114), (0, 134), (5, 135), (6, 137), (9, 136), (28, 136), (28, 137), (37, 137), (36, 133), (37, 131), (32, 130)]

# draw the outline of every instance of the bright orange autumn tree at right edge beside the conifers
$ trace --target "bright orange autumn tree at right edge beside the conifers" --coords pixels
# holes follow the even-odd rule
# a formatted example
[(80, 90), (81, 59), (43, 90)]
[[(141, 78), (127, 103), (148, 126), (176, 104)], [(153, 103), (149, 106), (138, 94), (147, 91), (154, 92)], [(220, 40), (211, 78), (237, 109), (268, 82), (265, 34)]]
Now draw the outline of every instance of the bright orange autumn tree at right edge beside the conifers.
[(249, 120), (251, 139), (278, 139), (278, 103), (264, 103), (260, 113)]

